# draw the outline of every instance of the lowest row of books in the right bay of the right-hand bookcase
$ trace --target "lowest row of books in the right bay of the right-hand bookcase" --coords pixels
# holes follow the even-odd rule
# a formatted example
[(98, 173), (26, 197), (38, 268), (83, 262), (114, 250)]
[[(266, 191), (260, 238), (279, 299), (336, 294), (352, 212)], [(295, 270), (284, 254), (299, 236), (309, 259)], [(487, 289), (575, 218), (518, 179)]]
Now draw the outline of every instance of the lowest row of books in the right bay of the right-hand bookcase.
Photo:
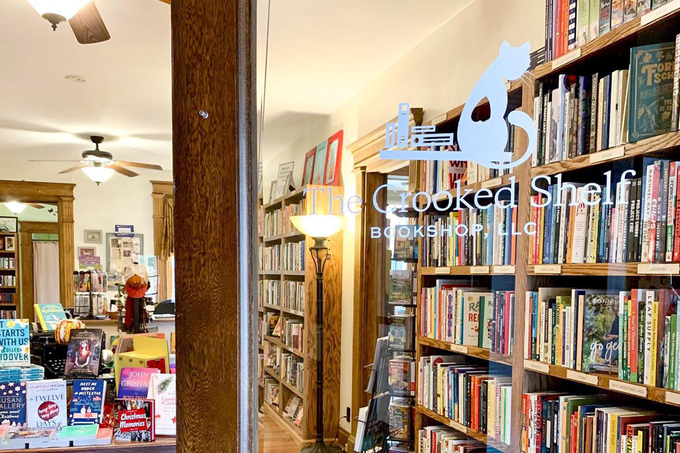
[(522, 397), (522, 452), (674, 453), (677, 417), (616, 406), (606, 395), (539, 391)]

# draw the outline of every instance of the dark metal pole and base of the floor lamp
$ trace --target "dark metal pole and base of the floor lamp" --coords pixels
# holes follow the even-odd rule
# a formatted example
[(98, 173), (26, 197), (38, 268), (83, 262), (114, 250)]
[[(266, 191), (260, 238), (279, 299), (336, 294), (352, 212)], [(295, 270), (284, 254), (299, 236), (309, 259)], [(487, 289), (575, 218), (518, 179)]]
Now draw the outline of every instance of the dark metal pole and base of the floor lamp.
[(331, 258), (326, 238), (312, 238), (310, 247), (317, 280), (317, 438), (304, 453), (336, 453), (340, 450), (324, 444), (324, 270)]

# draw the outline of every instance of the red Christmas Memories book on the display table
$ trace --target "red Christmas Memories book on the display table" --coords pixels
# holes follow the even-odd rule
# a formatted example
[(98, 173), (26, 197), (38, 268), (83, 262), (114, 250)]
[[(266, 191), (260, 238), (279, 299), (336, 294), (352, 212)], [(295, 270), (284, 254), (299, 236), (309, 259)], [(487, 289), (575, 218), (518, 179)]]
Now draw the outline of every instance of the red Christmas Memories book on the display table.
[(115, 440), (130, 442), (153, 442), (156, 438), (154, 400), (119, 399), (114, 401)]

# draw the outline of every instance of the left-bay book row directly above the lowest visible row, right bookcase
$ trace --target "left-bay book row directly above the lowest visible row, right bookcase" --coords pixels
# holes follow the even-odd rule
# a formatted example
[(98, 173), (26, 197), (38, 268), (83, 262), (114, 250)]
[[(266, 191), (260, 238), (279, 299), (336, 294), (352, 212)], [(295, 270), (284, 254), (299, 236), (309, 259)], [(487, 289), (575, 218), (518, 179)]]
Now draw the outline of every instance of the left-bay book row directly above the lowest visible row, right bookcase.
[(460, 355), (421, 357), (418, 403), (509, 445), (511, 377), (464, 360)]

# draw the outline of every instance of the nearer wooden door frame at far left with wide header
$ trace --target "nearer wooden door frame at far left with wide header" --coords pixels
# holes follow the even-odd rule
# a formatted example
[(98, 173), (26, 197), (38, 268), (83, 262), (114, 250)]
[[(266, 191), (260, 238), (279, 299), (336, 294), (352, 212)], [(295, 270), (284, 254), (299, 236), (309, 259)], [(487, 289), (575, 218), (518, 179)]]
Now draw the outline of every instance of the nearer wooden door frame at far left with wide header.
[[(59, 297), (64, 306), (73, 306), (75, 248), (73, 231), (73, 189), (75, 184), (0, 180), (0, 202), (50, 203), (57, 205), (59, 234)], [(31, 306), (33, 307), (33, 306)]]

